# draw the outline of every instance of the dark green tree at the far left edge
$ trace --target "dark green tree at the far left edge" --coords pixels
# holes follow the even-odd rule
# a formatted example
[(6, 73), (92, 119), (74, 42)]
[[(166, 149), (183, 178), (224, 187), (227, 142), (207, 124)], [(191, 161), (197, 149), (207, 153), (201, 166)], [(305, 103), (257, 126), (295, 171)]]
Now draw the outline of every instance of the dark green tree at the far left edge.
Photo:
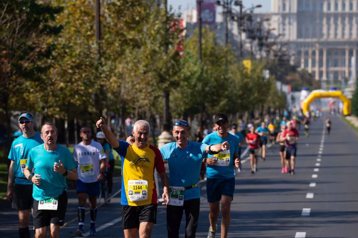
[(0, 1), (0, 110), (6, 115), (7, 149), (11, 144), (10, 111), (19, 109), (19, 101), (26, 105), (35, 99), (29, 92), (49, 68), (51, 39), (62, 29), (55, 21), (61, 10), (35, 0)]

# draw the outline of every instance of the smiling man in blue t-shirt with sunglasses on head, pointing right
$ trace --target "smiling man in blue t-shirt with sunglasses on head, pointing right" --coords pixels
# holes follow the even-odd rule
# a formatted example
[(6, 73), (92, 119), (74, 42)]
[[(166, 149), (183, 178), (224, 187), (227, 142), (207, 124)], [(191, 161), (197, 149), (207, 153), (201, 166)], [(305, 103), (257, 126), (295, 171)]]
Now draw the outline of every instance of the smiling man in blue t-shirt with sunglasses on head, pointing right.
[[(185, 237), (195, 237), (200, 210), (200, 189), (197, 187), (202, 162), (208, 163), (207, 154), (228, 150), (228, 142), (207, 145), (188, 140), (188, 122), (178, 120), (173, 125), (175, 142), (160, 148), (169, 165), (170, 200), (166, 208), (166, 227), (169, 238), (179, 237), (180, 222), (185, 212)], [(237, 143), (238, 145), (238, 143)], [(211, 161), (214, 163), (213, 161)]]

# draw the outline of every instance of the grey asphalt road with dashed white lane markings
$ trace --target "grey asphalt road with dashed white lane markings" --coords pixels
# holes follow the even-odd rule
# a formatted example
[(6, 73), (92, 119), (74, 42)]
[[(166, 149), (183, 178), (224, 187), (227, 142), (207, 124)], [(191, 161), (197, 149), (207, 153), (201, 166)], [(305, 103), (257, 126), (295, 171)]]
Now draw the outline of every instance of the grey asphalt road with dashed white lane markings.
[[(277, 145), (269, 149), (258, 173), (250, 173), (248, 161), (236, 175), (228, 237), (358, 237), (358, 135), (338, 116), (332, 116), (331, 135), (324, 135), (322, 120), (312, 122), (310, 137), (302, 134), (297, 152), (296, 175), (281, 174)], [(115, 187), (120, 189), (119, 177)], [(204, 182), (197, 237), (209, 227)], [(77, 199), (69, 191), (66, 220), (77, 216)], [(98, 210), (96, 237), (123, 237), (119, 194)], [(17, 237), (16, 212), (0, 204), (0, 237)], [(220, 219), (220, 217), (219, 217)], [(89, 215), (86, 217), (88, 230)], [(109, 224), (108, 224), (109, 223)], [(184, 237), (184, 220), (180, 237)], [(74, 237), (77, 221), (61, 229), (61, 237)], [(94, 236), (93, 236), (94, 237)], [(165, 207), (158, 206), (158, 223), (152, 237), (166, 237)]]

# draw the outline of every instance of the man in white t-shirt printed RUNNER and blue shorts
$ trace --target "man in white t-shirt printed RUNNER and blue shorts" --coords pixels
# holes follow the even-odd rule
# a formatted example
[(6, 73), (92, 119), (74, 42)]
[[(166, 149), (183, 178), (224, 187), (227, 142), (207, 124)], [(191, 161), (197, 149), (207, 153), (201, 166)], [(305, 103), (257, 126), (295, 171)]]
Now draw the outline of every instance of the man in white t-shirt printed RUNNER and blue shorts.
[(78, 229), (76, 235), (83, 236), (84, 214), (88, 194), (91, 207), (90, 234), (96, 234), (95, 222), (97, 217), (97, 196), (100, 194), (100, 181), (104, 179), (106, 170), (106, 154), (102, 145), (92, 141), (91, 128), (82, 127), (80, 130), (82, 142), (73, 148), (73, 158), (78, 162), (78, 180), (76, 190), (78, 195)]

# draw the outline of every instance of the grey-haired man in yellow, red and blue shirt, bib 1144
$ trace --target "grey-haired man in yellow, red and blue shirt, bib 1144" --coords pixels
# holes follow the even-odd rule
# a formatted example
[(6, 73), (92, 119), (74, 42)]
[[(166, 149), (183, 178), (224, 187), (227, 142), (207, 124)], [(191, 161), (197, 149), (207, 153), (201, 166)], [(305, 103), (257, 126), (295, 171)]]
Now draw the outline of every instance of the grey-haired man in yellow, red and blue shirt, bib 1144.
[[(119, 140), (107, 127), (101, 117), (96, 123), (103, 135), (122, 159), (122, 223), (125, 238), (151, 237), (156, 223), (157, 193), (154, 169), (157, 170), (163, 185), (163, 205), (170, 201), (168, 177), (163, 158), (158, 148), (148, 143), (150, 124), (145, 120), (134, 123), (132, 133), (134, 143)], [(199, 175), (198, 175), (199, 176)]]

